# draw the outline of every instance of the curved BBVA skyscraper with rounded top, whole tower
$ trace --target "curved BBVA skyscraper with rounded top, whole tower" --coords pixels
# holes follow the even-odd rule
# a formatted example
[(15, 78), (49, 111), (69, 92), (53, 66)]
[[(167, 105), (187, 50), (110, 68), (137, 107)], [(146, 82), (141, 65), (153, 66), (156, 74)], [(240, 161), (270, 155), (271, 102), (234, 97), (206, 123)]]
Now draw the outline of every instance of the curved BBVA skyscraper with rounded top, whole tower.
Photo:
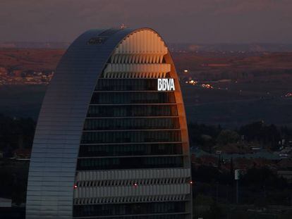
[(26, 218), (191, 218), (174, 63), (149, 28), (90, 30), (63, 55), (32, 146)]

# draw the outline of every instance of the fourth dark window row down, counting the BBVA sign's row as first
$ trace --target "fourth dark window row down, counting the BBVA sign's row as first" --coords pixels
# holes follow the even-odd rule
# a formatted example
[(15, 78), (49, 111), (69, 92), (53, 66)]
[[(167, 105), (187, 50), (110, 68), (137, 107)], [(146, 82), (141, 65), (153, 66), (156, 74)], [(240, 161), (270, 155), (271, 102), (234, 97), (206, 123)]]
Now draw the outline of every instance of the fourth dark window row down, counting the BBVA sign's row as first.
[(146, 130), (179, 128), (178, 118), (87, 119), (84, 130)]

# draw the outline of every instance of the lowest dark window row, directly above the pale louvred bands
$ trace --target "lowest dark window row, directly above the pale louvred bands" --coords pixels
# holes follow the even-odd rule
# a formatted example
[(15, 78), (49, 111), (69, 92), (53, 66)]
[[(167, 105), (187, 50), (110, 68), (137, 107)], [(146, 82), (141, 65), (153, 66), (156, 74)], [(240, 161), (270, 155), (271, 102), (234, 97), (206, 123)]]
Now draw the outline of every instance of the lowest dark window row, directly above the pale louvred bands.
[(182, 168), (182, 156), (132, 158), (79, 158), (77, 170), (117, 170), (142, 168)]

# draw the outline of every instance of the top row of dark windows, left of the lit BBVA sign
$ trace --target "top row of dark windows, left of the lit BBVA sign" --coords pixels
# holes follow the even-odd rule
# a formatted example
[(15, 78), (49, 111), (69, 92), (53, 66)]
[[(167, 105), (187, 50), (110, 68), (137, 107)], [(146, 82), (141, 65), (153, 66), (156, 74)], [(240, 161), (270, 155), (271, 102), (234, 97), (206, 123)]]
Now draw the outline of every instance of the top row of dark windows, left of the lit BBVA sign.
[(143, 91), (157, 90), (157, 79), (99, 79), (95, 90), (99, 91)]

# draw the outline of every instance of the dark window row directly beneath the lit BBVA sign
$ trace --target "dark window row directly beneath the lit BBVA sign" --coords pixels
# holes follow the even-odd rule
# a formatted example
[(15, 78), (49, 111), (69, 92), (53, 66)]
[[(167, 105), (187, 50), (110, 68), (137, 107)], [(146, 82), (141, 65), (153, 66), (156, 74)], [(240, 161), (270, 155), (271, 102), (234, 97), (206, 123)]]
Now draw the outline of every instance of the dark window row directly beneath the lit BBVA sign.
[(94, 93), (90, 104), (164, 104), (176, 103), (174, 92)]

